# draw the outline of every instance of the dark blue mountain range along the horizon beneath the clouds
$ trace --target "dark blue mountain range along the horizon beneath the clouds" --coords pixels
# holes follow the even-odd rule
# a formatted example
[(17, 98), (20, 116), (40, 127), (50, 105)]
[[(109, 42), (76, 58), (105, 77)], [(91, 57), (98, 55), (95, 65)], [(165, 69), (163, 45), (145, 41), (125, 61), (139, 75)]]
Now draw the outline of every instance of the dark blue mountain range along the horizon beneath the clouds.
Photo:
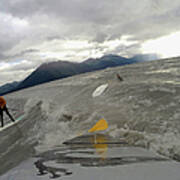
[(68, 61), (44, 63), (23, 81), (1, 86), (0, 95), (81, 73), (157, 59), (157, 56), (150, 59), (148, 57), (148, 55), (136, 55), (132, 58), (125, 58), (118, 55), (105, 55), (101, 58), (90, 58), (81, 63)]

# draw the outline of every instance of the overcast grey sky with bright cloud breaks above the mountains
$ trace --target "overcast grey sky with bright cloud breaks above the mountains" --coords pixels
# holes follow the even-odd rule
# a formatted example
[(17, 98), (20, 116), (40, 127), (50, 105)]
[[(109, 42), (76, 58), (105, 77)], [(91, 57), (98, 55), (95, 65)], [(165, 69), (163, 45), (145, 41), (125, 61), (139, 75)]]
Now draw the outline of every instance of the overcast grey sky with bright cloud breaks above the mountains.
[(179, 0), (1, 0), (0, 85), (41, 63), (180, 55)]

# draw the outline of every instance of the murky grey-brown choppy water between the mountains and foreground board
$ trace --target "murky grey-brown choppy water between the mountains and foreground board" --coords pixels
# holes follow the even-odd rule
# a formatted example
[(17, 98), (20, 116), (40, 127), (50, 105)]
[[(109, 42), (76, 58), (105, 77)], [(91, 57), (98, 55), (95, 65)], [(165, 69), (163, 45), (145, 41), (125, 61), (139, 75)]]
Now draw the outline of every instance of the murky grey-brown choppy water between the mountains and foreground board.
[[(0, 132), (0, 174), (87, 134), (101, 118), (109, 125), (106, 135), (179, 161), (179, 66), (177, 58), (109, 68), (7, 95), (8, 106), (22, 110), (25, 117), (18, 123), (20, 130), (14, 126)], [(124, 81), (116, 79), (116, 73)], [(104, 84), (105, 91), (93, 97)]]

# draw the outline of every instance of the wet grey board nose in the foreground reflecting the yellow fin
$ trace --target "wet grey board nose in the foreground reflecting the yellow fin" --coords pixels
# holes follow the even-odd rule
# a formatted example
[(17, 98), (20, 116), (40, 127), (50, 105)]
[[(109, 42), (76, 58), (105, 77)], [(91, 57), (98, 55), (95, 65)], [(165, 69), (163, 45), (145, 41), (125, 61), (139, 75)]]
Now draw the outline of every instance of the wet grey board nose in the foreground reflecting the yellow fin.
[(180, 163), (129, 146), (124, 139), (90, 134), (22, 162), (0, 180), (179, 180), (179, 167)]

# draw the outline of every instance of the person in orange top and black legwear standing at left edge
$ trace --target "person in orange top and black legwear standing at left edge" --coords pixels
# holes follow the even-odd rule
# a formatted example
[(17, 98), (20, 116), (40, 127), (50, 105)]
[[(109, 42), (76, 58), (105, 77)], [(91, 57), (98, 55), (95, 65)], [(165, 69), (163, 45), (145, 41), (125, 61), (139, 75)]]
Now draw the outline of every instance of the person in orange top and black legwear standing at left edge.
[(3, 119), (3, 111), (6, 112), (6, 114), (9, 116), (12, 122), (15, 122), (14, 118), (11, 116), (11, 114), (8, 111), (8, 108), (6, 106), (6, 100), (4, 97), (0, 96), (0, 118), (1, 118), (1, 126), (4, 126), (4, 119)]

